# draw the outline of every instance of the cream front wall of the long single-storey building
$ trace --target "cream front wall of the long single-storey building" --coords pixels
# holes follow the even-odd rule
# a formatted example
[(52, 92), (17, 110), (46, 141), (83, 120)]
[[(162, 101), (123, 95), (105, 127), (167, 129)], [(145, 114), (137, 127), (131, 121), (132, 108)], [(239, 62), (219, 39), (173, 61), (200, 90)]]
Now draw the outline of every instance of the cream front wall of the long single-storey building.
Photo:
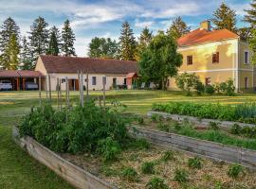
[[(78, 79), (77, 74), (49, 74), (50, 76), (50, 82), (51, 82), (51, 90), (55, 91), (57, 86), (57, 78), (60, 78), (61, 80), (67, 77), (67, 79)], [(86, 87), (86, 75), (83, 76), (83, 86)], [(92, 77), (96, 77), (96, 85), (93, 85), (92, 83)], [(89, 90), (102, 90), (103, 89), (103, 77), (106, 77), (106, 90), (112, 89), (113, 86), (113, 78), (117, 78), (117, 85), (124, 84), (124, 78), (126, 78), (126, 75), (104, 75), (104, 74), (89, 74), (89, 82), (88, 87)], [(61, 84), (61, 88), (65, 89), (65, 82)]]

